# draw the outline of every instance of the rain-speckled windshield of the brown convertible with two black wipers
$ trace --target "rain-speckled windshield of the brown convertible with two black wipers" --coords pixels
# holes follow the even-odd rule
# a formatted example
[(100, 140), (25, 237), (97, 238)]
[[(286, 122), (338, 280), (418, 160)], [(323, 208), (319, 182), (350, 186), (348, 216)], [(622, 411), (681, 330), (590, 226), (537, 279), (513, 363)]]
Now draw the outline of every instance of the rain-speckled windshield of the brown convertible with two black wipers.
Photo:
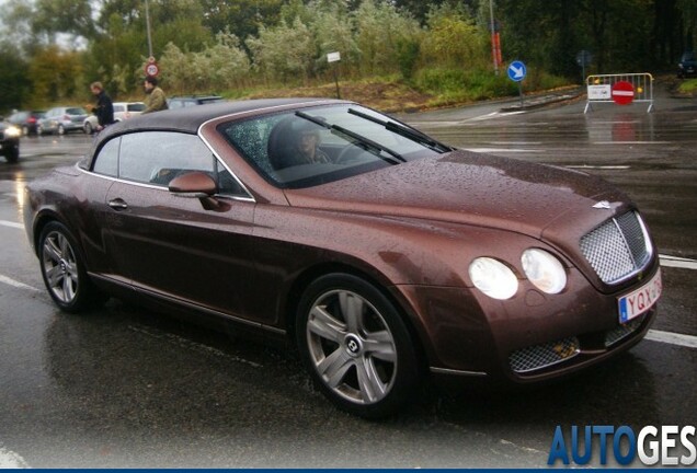
[(400, 122), (348, 104), (230, 122), (218, 130), (266, 181), (283, 188), (320, 185), (452, 150)]

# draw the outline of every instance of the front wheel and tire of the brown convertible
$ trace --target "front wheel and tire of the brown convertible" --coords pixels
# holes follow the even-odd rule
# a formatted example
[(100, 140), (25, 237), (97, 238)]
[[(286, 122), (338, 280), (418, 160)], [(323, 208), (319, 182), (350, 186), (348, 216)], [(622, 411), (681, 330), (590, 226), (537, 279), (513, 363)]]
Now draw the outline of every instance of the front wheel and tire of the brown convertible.
[(400, 313), (356, 276), (330, 274), (310, 284), (298, 307), (296, 339), (320, 391), (361, 417), (395, 414), (411, 400), (421, 378)]

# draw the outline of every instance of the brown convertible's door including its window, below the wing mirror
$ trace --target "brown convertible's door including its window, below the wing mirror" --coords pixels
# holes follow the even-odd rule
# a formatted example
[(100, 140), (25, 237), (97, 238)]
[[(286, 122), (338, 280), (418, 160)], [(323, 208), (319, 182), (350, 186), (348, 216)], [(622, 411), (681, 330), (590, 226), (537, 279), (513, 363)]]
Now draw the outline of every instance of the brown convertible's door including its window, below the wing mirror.
[(253, 199), (219, 195), (220, 205), (207, 209), (205, 199), (168, 189), (173, 177), (186, 172), (202, 171), (217, 180), (220, 166), (195, 135), (124, 135), (119, 180), (106, 198), (113, 211), (110, 232), (119, 264), (138, 290), (259, 320), (247, 298), (258, 279)]

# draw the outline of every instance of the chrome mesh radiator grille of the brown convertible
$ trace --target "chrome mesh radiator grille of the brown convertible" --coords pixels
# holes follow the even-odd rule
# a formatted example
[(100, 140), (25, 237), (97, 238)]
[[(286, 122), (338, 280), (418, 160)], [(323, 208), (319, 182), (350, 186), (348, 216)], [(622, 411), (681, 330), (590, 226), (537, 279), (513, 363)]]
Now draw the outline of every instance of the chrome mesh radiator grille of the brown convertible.
[(641, 269), (653, 249), (639, 214), (631, 211), (581, 238), (581, 252), (603, 282), (614, 284)]

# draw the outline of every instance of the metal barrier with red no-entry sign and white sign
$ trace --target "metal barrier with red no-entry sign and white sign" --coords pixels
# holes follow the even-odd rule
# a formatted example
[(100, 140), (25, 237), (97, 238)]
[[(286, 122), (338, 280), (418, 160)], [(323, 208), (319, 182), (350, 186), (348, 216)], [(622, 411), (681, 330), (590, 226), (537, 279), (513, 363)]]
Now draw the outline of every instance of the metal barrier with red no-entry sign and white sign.
[(647, 113), (653, 109), (653, 76), (648, 72), (589, 76), (585, 83), (589, 99), (584, 114), (595, 103), (648, 103)]

